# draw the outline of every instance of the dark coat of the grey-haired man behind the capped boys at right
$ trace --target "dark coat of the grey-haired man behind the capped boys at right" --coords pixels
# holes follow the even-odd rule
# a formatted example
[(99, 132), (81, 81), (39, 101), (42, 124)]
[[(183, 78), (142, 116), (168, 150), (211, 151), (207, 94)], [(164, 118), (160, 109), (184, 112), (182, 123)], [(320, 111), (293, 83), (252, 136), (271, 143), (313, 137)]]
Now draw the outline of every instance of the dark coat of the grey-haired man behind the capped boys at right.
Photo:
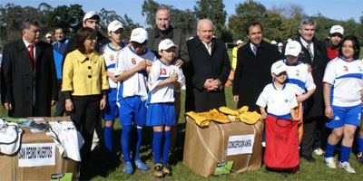
[(314, 59), (311, 62), (309, 51), (302, 45), (300, 36), (296, 40), (301, 44), (302, 48), (302, 52), (299, 54), (299, 61), (309, 63), (311, 65), (311, 74), (314, 79), (314, 83), (317, 86), (317, 89), (312, 96), (305, 101), (304, 116), (307, 119), (324, 116), (325, 105), (323, 100), (322, 81), (325, 68), (329, 62), (327, 47), (324, 43), (314, 37), (312, 39), (314, 45)]

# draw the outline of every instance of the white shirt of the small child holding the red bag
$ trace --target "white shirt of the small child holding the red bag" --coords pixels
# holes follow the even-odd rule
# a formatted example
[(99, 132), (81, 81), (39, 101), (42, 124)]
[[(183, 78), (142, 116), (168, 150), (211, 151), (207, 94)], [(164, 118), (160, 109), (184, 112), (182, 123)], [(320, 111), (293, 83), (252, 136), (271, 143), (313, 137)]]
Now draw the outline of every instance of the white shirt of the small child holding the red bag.
[(268, 84), (260, 93), (256, 104), (266, 108), (269, 114), (284, 116), (298, 106), (294, 88), (285, 83), (281, 89), (277, 89), (273, 83)]

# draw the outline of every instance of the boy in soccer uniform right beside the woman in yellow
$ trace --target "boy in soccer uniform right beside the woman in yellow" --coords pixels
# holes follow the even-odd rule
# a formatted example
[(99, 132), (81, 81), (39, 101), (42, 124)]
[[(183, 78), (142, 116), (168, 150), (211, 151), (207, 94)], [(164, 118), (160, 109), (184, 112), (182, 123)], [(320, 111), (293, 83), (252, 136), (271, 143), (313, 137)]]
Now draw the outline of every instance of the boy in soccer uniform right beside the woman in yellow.
[(103, 110), (104, 119), (104, 131), (103, 138), (104, 144), (108, 149), (108, 155), (106, 163), (113, 161), (113, 122), (119, 116), (119, 108), (116, 104), (117, 100), (117, 80), (114, 77), (115, 64), (117, 54), (125, 47), (123, 43), (123, 24), (117, 20), (114, 20), (108, 25), (108, 36), (111, 37), (111, 43), (107, 43), (101, 47), (101, 53), (103, 53), (104, 62), (107, 68), (108, 83), (110, 84), (110, 90), (107, 94), (107, 104)]

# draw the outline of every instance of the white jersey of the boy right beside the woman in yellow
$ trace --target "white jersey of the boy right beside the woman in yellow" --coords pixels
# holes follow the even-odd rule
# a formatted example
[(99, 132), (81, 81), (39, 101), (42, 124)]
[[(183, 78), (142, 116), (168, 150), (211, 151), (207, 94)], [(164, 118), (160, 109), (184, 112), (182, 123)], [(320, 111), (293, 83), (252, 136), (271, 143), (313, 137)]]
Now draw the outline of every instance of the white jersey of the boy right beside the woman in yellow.
[[(125, 43), (120, 49), (114, 49), (110, 46), (110, 43), (107, 43), (101, 47), (100, 52), (103, 53), (103, 59), (106, 64), (107, 71), (113, 72), (116, 67), (116, 57), (117, 54), (125, 47)], [(114, 82), (111, 78), (108, 78), (108, 84), (110, 84), (110, 88), (117, 88), (117, 82)]]

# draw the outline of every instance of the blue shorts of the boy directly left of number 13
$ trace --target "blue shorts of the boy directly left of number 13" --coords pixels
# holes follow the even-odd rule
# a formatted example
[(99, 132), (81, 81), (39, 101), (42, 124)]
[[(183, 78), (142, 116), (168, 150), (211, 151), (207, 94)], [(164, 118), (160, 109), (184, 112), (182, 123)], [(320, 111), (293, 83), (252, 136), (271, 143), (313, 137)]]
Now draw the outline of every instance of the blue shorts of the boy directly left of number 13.
[(143, 126), (146, 121), (146, 101), (139, 96), (127, 97), (119, 100), (120, 108), (120, 124), (131, 125), (132, 121), (135, 125)]

